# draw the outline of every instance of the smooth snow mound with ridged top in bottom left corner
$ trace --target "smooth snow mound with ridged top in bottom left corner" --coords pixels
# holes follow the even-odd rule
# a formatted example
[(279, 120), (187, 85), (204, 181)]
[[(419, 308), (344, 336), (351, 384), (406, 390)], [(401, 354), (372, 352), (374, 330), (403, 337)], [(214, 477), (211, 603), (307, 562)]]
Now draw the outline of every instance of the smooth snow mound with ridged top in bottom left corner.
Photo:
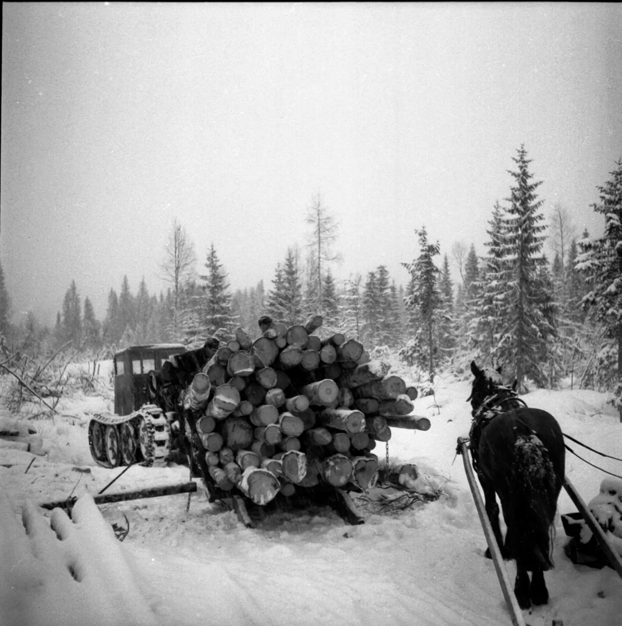
[[(54, 509), (49, 521), (31, 503), (22, 525), (0, 492), (0, 624), (141, 625), (158, 622), (93, 501), (76, 502), (73, 520)], [(25, 530), (25, 533), (24, 533)]]

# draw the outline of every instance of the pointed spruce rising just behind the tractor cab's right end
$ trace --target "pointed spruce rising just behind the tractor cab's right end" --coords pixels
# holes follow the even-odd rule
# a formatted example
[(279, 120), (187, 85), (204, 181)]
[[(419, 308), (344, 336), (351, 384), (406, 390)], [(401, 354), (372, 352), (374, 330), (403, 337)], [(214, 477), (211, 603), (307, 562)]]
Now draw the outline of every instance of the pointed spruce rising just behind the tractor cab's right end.
[(227, 272), (218, 259), (213, 243), (204, 267), (207, 272), (200, 275), (203, 298), (198, 309), (202, 332), (197, 338), (205, 341), (207, 337), (216, 337), (220, 341), (228, 341), (235, 329), (236, 319), (231, 310)]

